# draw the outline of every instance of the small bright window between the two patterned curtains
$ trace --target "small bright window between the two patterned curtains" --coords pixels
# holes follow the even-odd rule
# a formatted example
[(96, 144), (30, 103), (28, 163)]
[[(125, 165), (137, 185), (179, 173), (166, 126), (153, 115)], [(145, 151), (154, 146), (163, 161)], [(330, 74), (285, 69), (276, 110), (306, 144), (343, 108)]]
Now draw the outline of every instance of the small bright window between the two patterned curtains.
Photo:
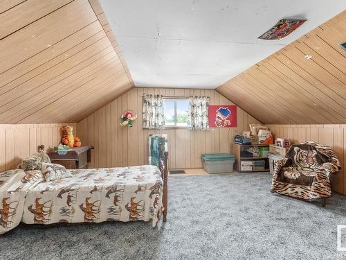
[(165, 111), (166, 127), (188, 127), (188, 99), (165, 98), (163, 110)]

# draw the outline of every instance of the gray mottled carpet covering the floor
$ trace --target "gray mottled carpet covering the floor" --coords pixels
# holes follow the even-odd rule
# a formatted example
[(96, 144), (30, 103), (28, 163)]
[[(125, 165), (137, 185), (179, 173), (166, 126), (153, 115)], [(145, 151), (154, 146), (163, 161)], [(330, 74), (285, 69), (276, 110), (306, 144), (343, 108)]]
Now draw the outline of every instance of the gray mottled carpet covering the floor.
[(0, 259), (346, 259), (327, 207), (269, 192), (268, 173), (170, 177), (167, 223), (24, 225), (0, 236)]

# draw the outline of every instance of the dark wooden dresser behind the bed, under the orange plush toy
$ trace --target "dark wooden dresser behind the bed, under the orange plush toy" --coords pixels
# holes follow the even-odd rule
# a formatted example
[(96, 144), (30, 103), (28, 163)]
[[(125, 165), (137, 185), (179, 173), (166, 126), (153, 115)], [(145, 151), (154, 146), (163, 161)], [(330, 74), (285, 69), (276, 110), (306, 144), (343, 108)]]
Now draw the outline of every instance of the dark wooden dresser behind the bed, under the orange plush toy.
[(69, 169), (88, 168), (91, 162), (91, 149), (93, 146), (73, 147), (66, 155), (59, 155), (57, 150), (51, 150), (48, 156), (54, 164), (61, 164)]

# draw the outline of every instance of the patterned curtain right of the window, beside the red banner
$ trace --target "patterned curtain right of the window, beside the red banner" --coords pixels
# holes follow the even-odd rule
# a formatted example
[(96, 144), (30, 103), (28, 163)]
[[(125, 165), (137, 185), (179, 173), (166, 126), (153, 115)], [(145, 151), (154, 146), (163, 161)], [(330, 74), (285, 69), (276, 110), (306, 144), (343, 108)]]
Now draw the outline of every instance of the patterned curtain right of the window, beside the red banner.
[(207, 130), (209, 96), (190, 96), (188, 112), (188, 128), (190, 130)]

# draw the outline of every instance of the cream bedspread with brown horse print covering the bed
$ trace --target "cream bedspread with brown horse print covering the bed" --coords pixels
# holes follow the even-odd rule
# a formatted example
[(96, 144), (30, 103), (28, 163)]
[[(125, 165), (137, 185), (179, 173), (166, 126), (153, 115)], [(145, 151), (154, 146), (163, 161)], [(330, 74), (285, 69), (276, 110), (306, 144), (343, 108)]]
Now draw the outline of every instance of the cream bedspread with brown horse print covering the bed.
[(73, 177), (44, 182), (41, 171), (0, 173), (0, 234), (27, 224), (152, 220), (163, 210), (156, 166), (71, 170)]

